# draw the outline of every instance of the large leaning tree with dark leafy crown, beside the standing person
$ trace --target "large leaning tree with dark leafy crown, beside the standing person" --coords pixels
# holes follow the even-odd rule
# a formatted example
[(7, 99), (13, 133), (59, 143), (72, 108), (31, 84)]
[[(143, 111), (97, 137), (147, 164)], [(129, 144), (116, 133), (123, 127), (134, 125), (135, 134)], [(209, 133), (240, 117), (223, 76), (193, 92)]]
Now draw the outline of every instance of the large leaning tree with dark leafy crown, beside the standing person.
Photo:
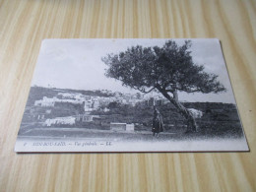
[(107, 54), (102, 58), (108, 66), (105, 75), (144, 94), (159, 92), (185, 117), (187, 132), (196, 132), (195, 119), (178, 101), (177, 93), (217, 94), (225, 89), (217, 75), (206, 73), (203, 65), (193, 61), (191, 45), (190, 40), (180, 46), (167, 40), (162, 47), (137, 45), (118, 54)]

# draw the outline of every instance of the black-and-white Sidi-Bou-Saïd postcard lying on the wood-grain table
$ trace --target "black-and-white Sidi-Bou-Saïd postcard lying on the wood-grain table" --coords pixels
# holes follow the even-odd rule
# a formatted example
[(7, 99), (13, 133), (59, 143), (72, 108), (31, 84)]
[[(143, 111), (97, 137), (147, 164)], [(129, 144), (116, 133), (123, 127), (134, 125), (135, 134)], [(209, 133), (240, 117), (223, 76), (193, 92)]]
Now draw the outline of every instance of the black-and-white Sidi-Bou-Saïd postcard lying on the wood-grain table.
[(15, 151), (248, 151), (218, 39), (45, 39)]

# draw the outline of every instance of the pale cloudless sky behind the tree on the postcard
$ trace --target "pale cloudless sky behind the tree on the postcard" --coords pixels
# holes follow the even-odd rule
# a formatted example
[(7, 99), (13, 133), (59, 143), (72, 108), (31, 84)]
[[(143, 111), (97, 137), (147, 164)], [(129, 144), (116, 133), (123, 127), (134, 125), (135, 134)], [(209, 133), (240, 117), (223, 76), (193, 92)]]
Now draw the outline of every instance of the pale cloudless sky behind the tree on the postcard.
[[(167, 39), (44, 39), (32, 78), (32, 86), (74, 89), (110, 90), (122, 93), (138, 91), (123, 87), (121, 82), (106, 78), (107, 66), (101, 61), (108, 53), (118, 53), (133, 45), (162, 46)], [(173, 39), (182, 45), (185, 39)], [(193, 61), (205, 71), (219, 76), (226, 88), (224, 94), (178, 93), (180, 100), (235, 103), (220, 41), (216, 38), (191, 39)]]

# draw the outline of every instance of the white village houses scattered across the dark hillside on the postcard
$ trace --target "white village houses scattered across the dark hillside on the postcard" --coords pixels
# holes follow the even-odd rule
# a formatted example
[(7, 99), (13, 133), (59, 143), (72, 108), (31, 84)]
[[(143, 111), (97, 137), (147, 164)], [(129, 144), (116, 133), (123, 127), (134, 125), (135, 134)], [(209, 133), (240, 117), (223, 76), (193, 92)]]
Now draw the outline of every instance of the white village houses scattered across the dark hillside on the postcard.
[[(102, 93), (102, 92), (101, 92)], [(109, 91), (105, 91), (106, 94), (111, 94)], [(75, 125), (77, 121), (80, 122), (92, 122), (94, 118), (100, 118), (98, 115), (91, 115), (91, 111), (98, 109), (100, 106), (107, 106), (110, 102), (120, 102), (123, 104), (135, 105), (136, 103), (142, 103), (145, 105), (161, 105), (167, 102), (166, 99), (162, 99), (160, 96), (155, 97), (143, 97), (141, 95), (130, 95), (130, 94), (120, 94), (115, 93), (111, 96), (85, 96), (78, 93), (59, 93), (58, 96), (47, 97), (43, 96), (42, 99), (35, 100), (35, 106), (42, 107), (53, 107), (56, 102), (69, 102), (74, 104), (84, 105), (84, 114), (77, 114), (73, 116), (66, 117), (55, 117), (51, 119), (46, 119), (44, 121), (44, 126), (50, 127), (54, 125)], [(109, 109), (104, 107), (105, 112)], [(195, 118), (201, 118), (202, 111), (190, 108), (189, 111), (193, 114)], [(43, 115), (43, 114), (42, 114)], [(44, 119), (44, 115), (38, 116), (38, 119)], [(110, 130), (113, 131), (134, 131), (134, 124), (111, 122)]]

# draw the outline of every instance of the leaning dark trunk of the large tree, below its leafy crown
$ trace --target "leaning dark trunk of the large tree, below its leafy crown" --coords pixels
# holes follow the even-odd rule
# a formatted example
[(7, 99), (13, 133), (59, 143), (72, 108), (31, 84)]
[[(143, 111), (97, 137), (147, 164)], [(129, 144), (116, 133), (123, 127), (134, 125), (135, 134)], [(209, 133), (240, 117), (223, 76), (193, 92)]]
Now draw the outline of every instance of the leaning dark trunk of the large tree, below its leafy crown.
[[(167, 98), (179, 111), (179, 113), (185, 117), (187, 120), (187, 131), (186, 133), (189, 132), (197, 132), (197, 124), (195, 121), (195, 118), (192, 116), (191, 112), (184, 107), (176, 98), (177, 98), (177, 93), (175, 95), (173, 94), (173, 97), (169, 96), (166, 92), (162, 91), (161, 89), (158, 89), (162, 96)], [(174, 98), (175, 96), (175, 98)]]

